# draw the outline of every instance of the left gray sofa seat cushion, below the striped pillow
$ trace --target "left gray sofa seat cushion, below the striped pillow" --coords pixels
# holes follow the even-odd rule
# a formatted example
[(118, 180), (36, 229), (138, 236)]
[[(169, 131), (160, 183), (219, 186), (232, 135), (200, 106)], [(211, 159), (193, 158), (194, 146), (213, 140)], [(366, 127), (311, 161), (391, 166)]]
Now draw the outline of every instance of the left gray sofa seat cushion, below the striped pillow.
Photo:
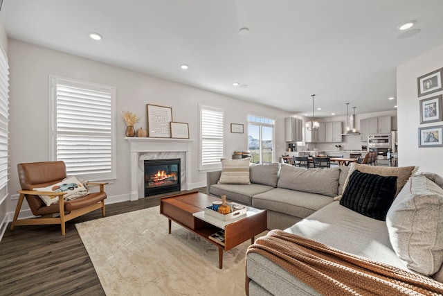
[(210, 186), (211, 195), (226, 195), (227, 200), (239, 202), (241, 204), (252, 205), (253, 195), (260, 194), (274, 189), (273, 186), (262, 184), (213, 184)]

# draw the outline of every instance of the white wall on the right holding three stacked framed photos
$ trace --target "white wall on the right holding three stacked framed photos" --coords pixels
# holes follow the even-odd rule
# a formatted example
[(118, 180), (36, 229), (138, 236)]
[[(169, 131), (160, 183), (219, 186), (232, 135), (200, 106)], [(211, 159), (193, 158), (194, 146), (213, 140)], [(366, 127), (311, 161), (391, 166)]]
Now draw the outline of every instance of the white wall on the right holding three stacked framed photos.
[[(397, 67), (397, 105), (399, 165), (419, 166), (419, 171), (443, 175), (443, 148), (419, 148), (418, 128), (442, 125), (443, 122), (420, 124), (419, 100), (443, 94), (417, 95), (417, 78), (443, 67), (443, 46)], [(440, 137), (442, 137), (441, 135)]]

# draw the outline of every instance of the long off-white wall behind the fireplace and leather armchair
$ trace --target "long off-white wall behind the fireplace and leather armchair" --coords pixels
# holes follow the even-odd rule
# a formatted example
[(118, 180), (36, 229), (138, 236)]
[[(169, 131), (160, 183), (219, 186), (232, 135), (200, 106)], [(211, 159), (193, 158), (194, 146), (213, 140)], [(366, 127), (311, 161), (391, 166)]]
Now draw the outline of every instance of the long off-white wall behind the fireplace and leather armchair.
[[(75, 55), (9, 40), (10, 55), (10, 191), (19, 189), (17, 164), (48, 160), (48, 75), (111, 85), (117, 89), (117, 180), (107, 186), (109, 201), (129, 200), (129, 142), (120, 112), (141, 116), (135, 128), (146, 127), (146, 104), (172, 107), (174, 121), (189, 123), (192, 144), (193, 187), (206, 186), (206, 172), (198, 171), (198, 104), (225, 110), (226, 146), (224, 157), (247, 149), (248, 113), (276, 119), (277, 151), (284, 150), (284, 117), (287, 112), (269, 106), (246, 103), (196, 87), (181, 85), (134, 71), (94, 62)], [(230, 123), (244, 124), (244, 134), (230, 133)], [(11, 202), (13, 211), (15, 202)]]

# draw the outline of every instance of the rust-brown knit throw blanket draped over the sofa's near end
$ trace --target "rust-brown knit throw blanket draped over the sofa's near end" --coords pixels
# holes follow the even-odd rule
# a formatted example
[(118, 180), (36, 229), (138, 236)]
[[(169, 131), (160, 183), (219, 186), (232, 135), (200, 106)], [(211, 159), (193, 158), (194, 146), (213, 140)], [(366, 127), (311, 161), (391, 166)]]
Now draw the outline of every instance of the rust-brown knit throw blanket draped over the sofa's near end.
[[(302, 236), (271, 230), (248, 247), (323, 295), (443, 295), (443, 284)], [(248, 283), (246, 277), (246, 294)]]

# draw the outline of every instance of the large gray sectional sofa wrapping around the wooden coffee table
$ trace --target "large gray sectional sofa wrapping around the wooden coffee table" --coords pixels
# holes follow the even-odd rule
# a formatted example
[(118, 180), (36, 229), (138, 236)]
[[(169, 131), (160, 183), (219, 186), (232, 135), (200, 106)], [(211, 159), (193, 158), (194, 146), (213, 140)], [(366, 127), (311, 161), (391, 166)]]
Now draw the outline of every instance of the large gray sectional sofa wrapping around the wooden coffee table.
[[(369, 174), (397, 176), (396, 198), (386, 221), (365, 216), (334, 200), (343, 193), (349, 175), (366, 168)], [(221, 172), (208, 173), (208, 194), (226, 195), (228, 200), (267, 209), (269, 229), (284, 229), (350, 254), (433, 278), (440, 285), (443, 179), (430, 173), (415, 175), (416, 168), (410, 168), (413, 167), (370, 168), (355, 164), (350, 168), (311, 170), (285, 164), (251, 165), (251, 184), (247, 185), (217, 184)], [(320, 295), (257, 252), (248, 252), (246, 256), (246, 277), (250, 279), (249, 295)]]

